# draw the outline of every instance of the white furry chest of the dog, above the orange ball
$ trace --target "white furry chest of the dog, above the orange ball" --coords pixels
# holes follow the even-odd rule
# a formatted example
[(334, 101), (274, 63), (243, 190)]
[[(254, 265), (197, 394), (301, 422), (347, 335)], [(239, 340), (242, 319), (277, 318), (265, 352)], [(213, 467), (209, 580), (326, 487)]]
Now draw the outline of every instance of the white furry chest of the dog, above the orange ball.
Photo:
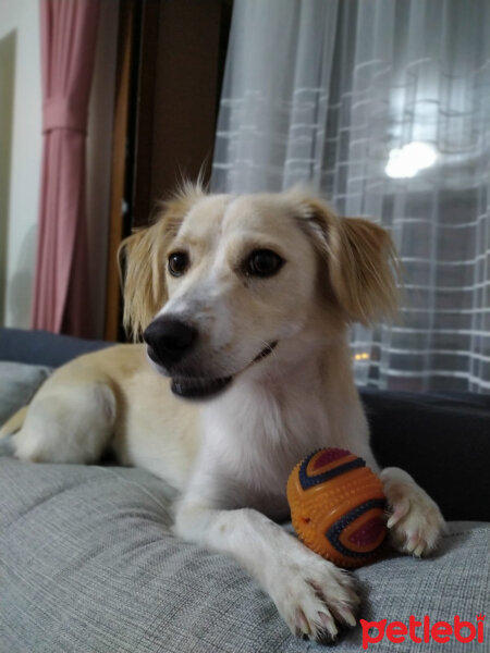
[(236, 393), (220, 404), (209, 408), (205, 421), (206, 445), (219, 472), (240, 483), (249, 504), (284, 505), (294, 465), (329, 440), (321, 402), (297, 390)]

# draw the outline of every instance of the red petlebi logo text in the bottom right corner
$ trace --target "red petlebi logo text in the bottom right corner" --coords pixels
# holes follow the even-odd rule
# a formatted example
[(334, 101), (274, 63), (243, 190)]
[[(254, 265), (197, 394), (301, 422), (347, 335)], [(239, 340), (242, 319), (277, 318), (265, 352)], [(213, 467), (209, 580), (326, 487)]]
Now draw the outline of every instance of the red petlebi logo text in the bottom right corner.
[[(377, 644), (384, 638), (393, 644), (403, 644), (405, 641), (416, 642), (418, 644), (438, 642), (445, 643), (457, 641), (463, 643), (477, 642), (483, 643), (483, 623), (485, 615), (477, 615), (476, 623), (464, 621), (460, 615), (456, 615), (452, 623), (431, 621), (428, 615), (418, 620), (411, 615), (408, 623), (391, 621), (381, 619), (380, 621), (359, 620), (363, 627), (363, 649), (366, 651), (370, 644)], [(371, 648), (376, 653), (376, 646)], [(424, 651), (420, 646), (420, 651)]]

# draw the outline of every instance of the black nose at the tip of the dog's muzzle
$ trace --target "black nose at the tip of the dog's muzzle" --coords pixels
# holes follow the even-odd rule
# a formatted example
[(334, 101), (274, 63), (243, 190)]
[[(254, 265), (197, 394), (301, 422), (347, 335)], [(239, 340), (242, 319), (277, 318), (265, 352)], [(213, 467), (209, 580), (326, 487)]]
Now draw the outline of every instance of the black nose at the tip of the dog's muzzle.
[(197, 340), (197, 329), (172, 317), (157, 318), (143, 334), (148, 356), (167, 368), (179, 362)]

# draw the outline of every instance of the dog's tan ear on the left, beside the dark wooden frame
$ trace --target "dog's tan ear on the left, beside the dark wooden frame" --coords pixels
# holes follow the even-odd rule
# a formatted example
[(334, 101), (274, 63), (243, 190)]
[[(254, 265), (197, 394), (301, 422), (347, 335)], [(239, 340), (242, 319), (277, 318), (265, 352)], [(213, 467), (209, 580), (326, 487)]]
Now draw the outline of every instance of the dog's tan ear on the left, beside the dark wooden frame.
[(166, 254), (185, 214), (204, 196), (200, 185), (184, 183), (157, 207), (154, 224), (125, 238), (118, 250), (123, 279), (123, 324), (135, 342), (168, 299)]

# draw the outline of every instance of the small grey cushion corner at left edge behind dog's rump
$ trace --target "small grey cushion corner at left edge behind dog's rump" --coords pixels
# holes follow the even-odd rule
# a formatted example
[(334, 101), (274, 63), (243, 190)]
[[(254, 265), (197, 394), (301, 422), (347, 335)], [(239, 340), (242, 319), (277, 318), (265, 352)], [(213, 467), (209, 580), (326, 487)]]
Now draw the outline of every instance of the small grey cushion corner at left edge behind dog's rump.
[(0, 426), (32, 399), (50, 373), (46, 366), (0, 360)]

